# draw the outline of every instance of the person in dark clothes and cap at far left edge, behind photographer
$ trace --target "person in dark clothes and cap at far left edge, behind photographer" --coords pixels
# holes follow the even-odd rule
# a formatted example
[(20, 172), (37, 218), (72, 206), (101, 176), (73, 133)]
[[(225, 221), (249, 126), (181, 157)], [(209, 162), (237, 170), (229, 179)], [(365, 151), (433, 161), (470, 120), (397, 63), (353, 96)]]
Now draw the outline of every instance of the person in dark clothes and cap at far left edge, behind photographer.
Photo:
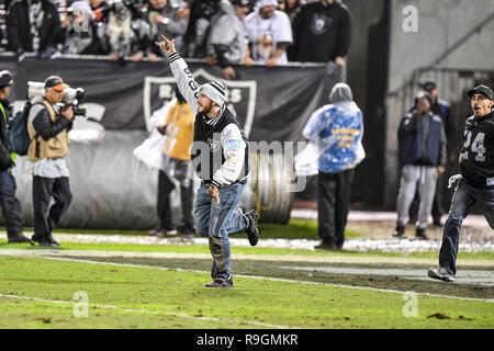
[(0, 71), (0, 206), (5, 222), (9, 242), (30, 242), (30, 238), (22, 234), (21, 203), (15, 197), (15, 179), (12, 167), (15, 166), (15, 154), (11, 152), (9, 138), (9, 121), (11, 105), (7, 100), (10, 87), (13, 84), (12, 75), (8, 70)]

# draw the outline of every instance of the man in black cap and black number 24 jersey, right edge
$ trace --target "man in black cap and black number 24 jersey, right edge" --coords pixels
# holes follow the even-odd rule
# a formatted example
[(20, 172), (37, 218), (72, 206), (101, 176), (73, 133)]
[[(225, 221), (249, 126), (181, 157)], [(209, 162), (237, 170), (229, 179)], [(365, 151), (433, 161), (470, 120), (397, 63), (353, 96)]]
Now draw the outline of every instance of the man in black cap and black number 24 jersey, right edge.
[(486, 86), (469, 90), (473, 115), (467, 118), (459, 162), (461, 174), (451, 200), (451, 210), (442, 231), (439, 268), (430, 268), (428, 276), (454, 281), (460, 231), (463, 219), (476, 203), (494, 230), (494, 92)]

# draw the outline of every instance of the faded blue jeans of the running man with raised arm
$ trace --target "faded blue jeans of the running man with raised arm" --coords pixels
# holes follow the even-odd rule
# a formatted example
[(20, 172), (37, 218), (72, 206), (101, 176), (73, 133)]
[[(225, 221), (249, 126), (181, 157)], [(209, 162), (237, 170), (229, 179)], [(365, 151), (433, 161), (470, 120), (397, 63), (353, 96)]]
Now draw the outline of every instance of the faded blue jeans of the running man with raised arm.
[(211, 276), (215, 280), (228, 279), (231, 246), (228, 235), (245, 230), (247, 220), (242, 210), (237, 208), (245, 184), (235, 183), (220, 189), (220, 205), (207, 195), (207, 185), (201, 184), (195, 197), (195, 231), (209, 237), (210, 251), (213, 256)]

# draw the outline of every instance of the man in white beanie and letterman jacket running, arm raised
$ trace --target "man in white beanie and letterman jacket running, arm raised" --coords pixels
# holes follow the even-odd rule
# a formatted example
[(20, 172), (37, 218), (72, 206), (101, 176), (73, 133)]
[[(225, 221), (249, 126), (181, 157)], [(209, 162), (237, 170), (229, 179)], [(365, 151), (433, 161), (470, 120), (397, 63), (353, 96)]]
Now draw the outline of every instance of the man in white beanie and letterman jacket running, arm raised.
[(161, 38), (156, 45), (167, 53), (178, 88), (195, 114), (191, 159), (202, 182), (195, 196), (194, 226), (200, 236), (209, 238), (213, 257), (213, 281), (206, 286), (233, 287), (228, 235), (246, 231), (251, 246), (260, 236), (258, 213), (244, 214), (238, 207), (249, 172), (247, 137), (226, 107), (226, 84), (199, 84), (175, 49), (175, 39)]

